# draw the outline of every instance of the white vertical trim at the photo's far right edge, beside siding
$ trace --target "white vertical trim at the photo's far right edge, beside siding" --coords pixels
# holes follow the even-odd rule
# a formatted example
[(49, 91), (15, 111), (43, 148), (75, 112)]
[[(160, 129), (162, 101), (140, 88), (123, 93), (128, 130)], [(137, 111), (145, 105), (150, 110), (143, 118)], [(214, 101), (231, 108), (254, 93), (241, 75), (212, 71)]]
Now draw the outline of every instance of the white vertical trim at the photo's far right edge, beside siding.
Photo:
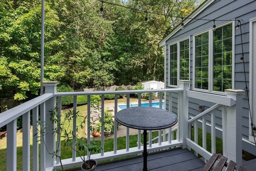
[[(254, 28), (254, 22), (256, 24), (256, 17), (251, 18), (249, 20), (249, 104), (251, 108), (251, 114), (252, 114), (252, 120), (250, 118), (249, 113), (249, 141), (254, 143), (254, 137), (252, 136), (252, 129), (251, 129), (251, 123), (256, 123), (256, 91), (253, 88), (253, 86), (256, 85), (256, 80), (253, 79), (256, 75), (256, 60), (253, 58), (253, 56), (256, 56), (256, 50), (254, 50), (254, 46), (256, 44), (256, 39), (254, 35), (256, 33), (256, 26)], [(253, 37), (254, 36), (254, 37)], [(253, 39), (254, 38), (254, 39)], [(254, 54), (253, 54), (254, 53)], [(250, 112), (250, 111), (249, 111)]]

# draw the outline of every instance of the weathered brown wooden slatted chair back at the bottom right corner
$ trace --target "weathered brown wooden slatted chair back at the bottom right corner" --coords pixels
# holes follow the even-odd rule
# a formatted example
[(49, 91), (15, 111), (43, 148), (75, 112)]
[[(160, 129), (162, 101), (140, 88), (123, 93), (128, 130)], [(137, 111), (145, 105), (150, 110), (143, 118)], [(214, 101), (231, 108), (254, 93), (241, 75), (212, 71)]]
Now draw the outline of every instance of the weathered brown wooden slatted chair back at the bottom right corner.
[[(204, 165), (203, 171), (222, 171), (222, 168), (225, 166), (226, 170), (225, 171), (245, 171), (245, 168), (242, 166), (236, 167), (236, 163), (232, 160), (228, 162), (227, 157), (220, 156), (216, 153), (212, 155), (212, 157), (207, 161), (207, 163)], [(214, 166), (215, 165), (215, 166)], [(212, 167), (214, 168), (212, 169)]]

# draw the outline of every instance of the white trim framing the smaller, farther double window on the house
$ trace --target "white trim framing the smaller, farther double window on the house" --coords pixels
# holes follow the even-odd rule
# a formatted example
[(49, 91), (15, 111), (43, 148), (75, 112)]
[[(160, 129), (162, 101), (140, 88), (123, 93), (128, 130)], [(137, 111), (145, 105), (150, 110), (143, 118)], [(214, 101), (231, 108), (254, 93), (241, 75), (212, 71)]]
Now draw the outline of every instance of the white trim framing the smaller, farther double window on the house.
[[(183, 41), (185, 41), (185, 40), (188, 40), (188, 44), (189, 44), (189, 60), (188, 60), (188, 73), (189, 73), (189, 75), (188, 75), (188, 77), (189, 77), (189, 79), (188, 80), (190, 80), (190, 36), (188, 36), (188, 37), (186, 37), (186, 38), (183, 38), (183, 39), (181, 39), (181, 40), (178, 40), (178, 41), (176, 41), (176, 42), (174, 42), (174, 43), (172, 43), (172, 44), (169, 44), (168, 46), (168, 64), (169, 64), (169, 71), (168, 71), (168, 73), (169, 73), (169, 75), (168, 75), (168, 86), (169, 87), (178, 87), (178, 82), (179, 82), (179, 80), (180, 80), (180, 42), (183, 42)], [(174, 45), (174, 44), (177, 44), (177, 85), (171, 85), (170, 84), (170, 46), (172, 46), (172, 45)]]

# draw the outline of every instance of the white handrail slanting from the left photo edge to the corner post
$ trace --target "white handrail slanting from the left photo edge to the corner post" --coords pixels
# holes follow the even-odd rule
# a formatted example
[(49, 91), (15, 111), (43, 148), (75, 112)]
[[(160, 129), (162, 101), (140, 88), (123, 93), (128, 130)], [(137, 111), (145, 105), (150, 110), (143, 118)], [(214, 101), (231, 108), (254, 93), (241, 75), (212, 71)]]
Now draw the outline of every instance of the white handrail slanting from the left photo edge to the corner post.
[(20, 117), (24, 113), (30, 111), (34, 107), (40, 105), (41, 103), (50, 99), (53, 96), (54, 96), (53, 93), (45, 93), (32, 100), (26, 101), (25, 103), (22, 103), (16, 107), (13, 107), (7, 111), (0, 113), (0, 116), (1, 116), (0, 127), (3, 127), (4, 125), (10, 123), (17, 117)]

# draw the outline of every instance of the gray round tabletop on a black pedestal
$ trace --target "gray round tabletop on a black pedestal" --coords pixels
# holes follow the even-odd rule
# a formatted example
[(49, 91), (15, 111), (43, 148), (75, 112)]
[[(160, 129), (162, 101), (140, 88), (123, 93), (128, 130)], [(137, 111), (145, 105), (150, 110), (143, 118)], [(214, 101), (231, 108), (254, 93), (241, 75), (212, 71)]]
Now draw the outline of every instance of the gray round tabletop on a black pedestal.
[(115, 119), (126, 127), (142, 130), (165, 129), (178, 121), (174, 113), (158, 107), (129, 107), (118, 111)]

